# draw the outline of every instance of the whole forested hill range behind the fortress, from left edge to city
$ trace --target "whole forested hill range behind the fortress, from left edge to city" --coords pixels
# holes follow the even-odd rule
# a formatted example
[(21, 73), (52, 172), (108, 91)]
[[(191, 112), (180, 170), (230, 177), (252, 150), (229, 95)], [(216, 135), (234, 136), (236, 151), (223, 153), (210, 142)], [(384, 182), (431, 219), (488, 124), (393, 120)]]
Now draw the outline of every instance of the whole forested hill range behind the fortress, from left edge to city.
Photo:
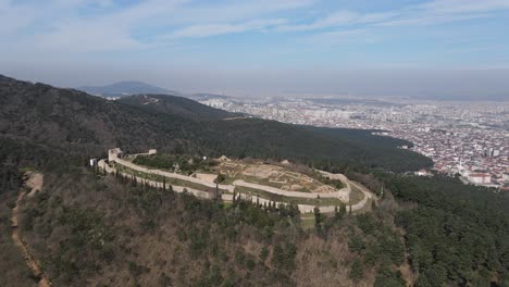
[(0, 77), (0, 136), (67, 152), (100, 155), (111, 147), (208, 155), (293, 159), (417, 170), (431, 161), (370, 132), (323, 132), (234, 114), (172, 96), (108, 101), (72, 89)]

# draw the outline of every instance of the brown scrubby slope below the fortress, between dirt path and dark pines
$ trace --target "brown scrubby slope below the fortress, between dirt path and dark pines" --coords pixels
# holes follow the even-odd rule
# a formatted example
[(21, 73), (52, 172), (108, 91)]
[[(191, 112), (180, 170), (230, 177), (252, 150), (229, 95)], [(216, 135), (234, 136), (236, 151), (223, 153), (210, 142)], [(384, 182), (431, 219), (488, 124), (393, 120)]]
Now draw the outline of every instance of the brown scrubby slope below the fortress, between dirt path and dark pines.
[[(54, 286), (373, 285), (373, 272), (348, 276), (356, 254), (346, 228), (325, 242), (276, 211), (225, 209), (76, 172), (49, 174), (23, 203), (24, 234)], [(330, 260), (325, 277), (310, 280), (313, 265)]]

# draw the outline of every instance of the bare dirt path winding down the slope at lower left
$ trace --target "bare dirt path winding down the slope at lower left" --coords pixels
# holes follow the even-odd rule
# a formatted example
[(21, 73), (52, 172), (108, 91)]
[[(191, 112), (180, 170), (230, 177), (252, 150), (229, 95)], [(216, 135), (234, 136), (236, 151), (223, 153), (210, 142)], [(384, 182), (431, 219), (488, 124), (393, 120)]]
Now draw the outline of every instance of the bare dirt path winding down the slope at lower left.
[[(34, 195), (37, 190), (41, 190), (42, 188), (42, 174), (39, 173), (30, 173), (27, 174), (29, 178), (26, 182), (26, 185), (32, 188), (32, 191), (29, 195)], [(20, 204), (21, 201), (23, 200), (23, 197), (25, 196), (25, 191), (23, 187), (20, 189), (20, 195), (17, 196), (16, 199), (16, 205), (12, 209), (12, 214), (11, 214), (11, 223), (12, 223), (12, 240), (14, 240), (14, 244), (17, 246), (20, 251), (23, 254), (23, 258), (25, 259), (26, 264), (28, 267), (32, 270), (32, 273), (34, 274), (35, 277), (38, 278), (38, 287), (50, 287), (51, 283), (46, 276), (46, 274), (42, 272), (39, 262), (37, 259), (30, 253), (30, 250), (28, 248), (28, 245), (26, 241), (23, 239), (22, 235), (20, 234), (20, 227), (18, 227), (18, 210), (20, 210)]]

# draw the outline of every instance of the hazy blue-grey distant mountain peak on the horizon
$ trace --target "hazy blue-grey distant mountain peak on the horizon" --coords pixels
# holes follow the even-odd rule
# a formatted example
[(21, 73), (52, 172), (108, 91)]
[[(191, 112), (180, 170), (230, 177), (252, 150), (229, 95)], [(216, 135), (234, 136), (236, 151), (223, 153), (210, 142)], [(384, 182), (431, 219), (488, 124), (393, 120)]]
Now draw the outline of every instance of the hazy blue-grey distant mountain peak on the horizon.
[(167, 90), (136, 80), (119, 82), (102, 87), (85, 86), (77, 89), (96, 96), (120, 98), (137, 93), (165, 93), (179, 96), (179, 92), (177, 91)]

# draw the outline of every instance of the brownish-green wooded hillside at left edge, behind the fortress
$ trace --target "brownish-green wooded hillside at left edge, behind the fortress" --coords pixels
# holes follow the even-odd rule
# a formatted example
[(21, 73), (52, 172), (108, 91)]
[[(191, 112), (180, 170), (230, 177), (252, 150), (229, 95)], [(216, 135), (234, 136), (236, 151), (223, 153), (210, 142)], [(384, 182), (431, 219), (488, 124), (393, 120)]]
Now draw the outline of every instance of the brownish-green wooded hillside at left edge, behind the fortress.
[(120, 146), (172, 147), (193, 122), (157, 115), (85, 92), (0, 77), (0, 135), (51, 148), (85, 148), (92, 153)]

